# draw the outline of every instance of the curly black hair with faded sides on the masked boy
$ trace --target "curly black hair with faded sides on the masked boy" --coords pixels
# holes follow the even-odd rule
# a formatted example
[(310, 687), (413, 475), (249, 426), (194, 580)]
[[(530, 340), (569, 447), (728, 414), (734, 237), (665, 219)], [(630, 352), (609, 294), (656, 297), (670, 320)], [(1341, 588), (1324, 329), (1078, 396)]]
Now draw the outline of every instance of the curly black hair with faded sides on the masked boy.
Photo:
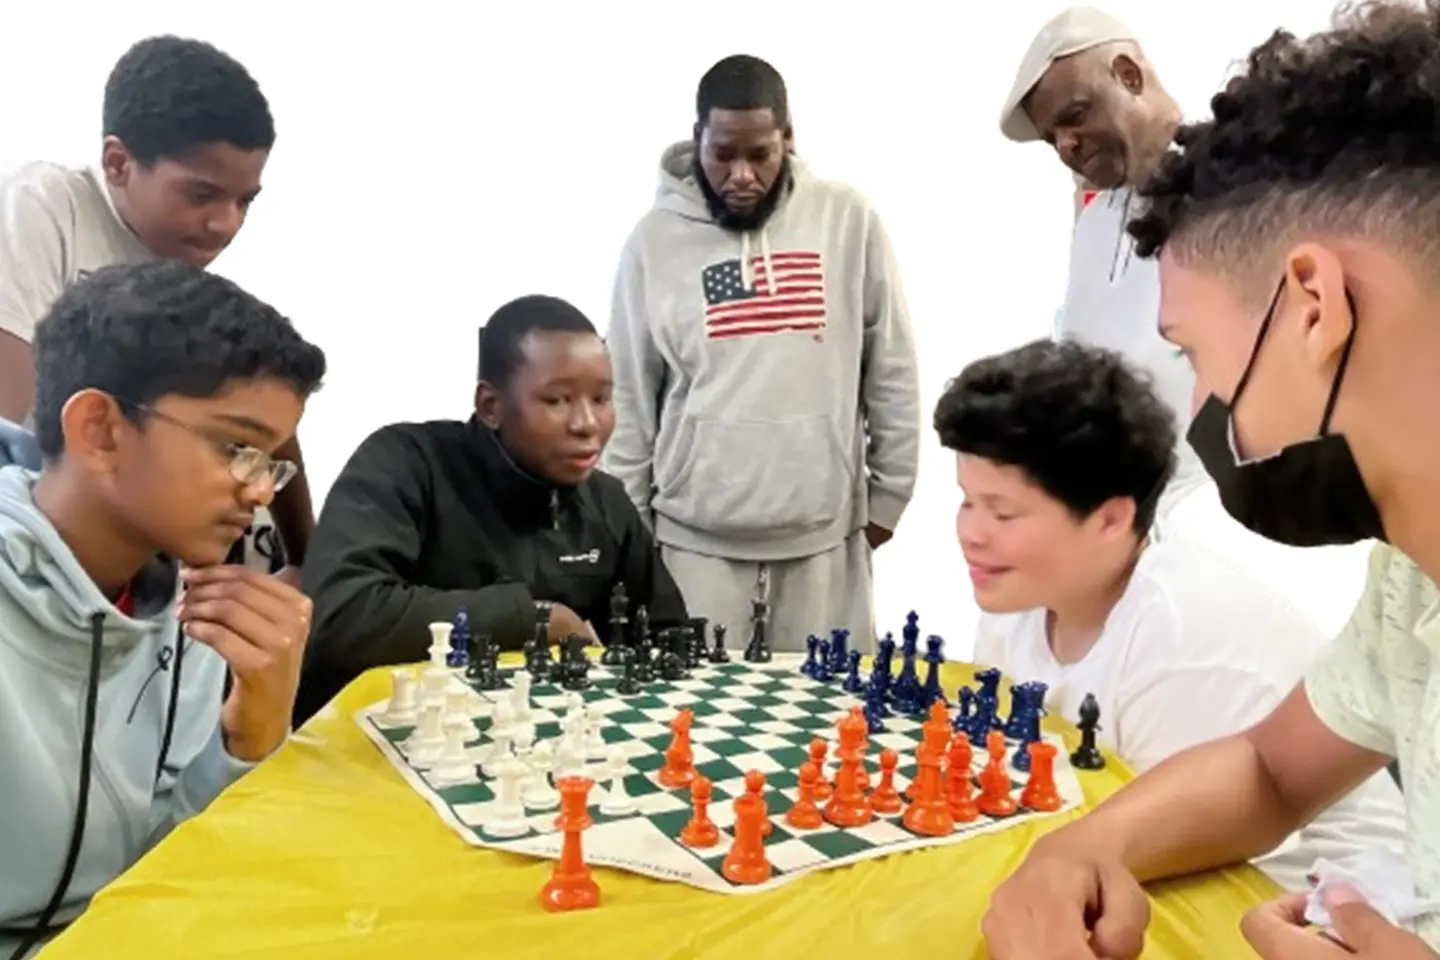
[(1139, 255), (1273, 269), (1264, 253), (1286, 239), (1356, 230), (1434, 259), (1440, 1), (1342, 6), (1308, 39), (1277, 30), (1210, 105), (1139, 190)]

